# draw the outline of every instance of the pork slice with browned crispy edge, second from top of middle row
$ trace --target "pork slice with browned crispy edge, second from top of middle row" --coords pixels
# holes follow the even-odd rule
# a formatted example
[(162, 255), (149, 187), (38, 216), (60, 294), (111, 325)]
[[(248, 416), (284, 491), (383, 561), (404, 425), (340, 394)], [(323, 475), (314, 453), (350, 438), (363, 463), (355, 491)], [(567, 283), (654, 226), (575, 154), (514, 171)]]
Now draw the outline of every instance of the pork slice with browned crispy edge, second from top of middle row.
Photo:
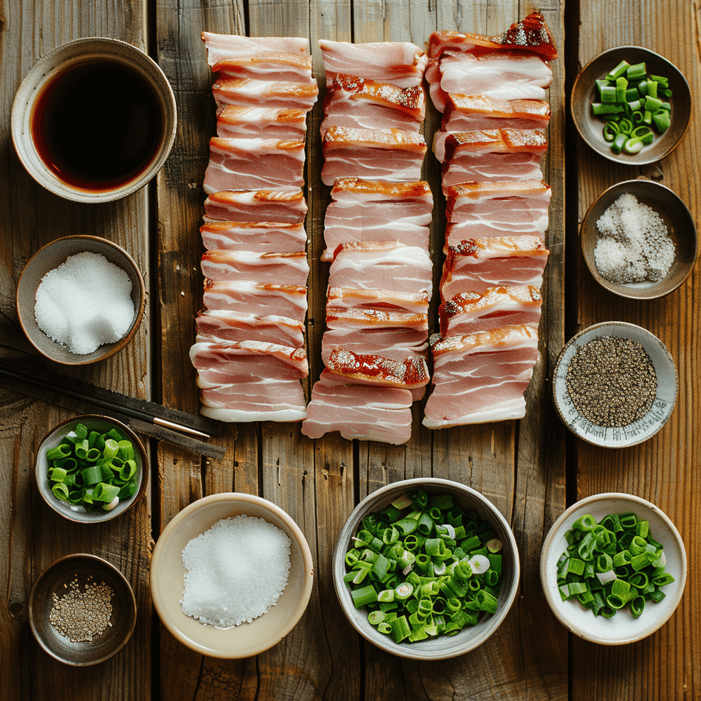
[(426, 116), (421, 86), (399, 88), (392, 83), (339, 74), (324, 100), (321, 135), (329, 126), (362, 129), (404, 129), (418, 133)]

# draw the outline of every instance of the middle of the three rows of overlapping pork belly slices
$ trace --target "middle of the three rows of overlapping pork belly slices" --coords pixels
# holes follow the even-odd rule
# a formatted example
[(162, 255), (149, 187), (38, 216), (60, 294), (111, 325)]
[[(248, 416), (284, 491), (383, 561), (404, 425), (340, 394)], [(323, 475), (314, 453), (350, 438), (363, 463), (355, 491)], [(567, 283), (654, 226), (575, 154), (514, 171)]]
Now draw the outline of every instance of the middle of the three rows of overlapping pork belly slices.
[(302, 433), (404, 443), (429, 381), (433, 196), (421, 181), (428, 57), (411, 43), (320, 41), (330, 261), (325, 368)]

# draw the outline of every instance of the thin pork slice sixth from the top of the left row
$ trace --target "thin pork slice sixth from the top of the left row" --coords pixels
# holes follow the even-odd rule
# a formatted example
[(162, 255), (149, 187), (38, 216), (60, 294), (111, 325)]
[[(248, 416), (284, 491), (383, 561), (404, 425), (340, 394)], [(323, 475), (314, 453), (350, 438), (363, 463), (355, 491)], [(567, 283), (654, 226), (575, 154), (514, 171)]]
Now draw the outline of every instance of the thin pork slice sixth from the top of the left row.
[(205, 200), (205, 222), (304, 222), (307, 205), (299, 187), (224, 190)]

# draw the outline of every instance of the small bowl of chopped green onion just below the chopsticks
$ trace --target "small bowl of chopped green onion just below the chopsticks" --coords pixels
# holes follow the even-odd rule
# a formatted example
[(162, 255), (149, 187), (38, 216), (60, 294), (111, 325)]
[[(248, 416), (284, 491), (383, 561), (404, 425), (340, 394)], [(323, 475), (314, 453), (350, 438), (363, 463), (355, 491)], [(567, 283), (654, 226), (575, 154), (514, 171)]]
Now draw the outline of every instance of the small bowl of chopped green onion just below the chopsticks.
[(36, 450), (39, 494), (71, 521), (96, 523), (130, 509), (146, 491), (147, 456), (121, 421), (87, 414), (62, 421)]

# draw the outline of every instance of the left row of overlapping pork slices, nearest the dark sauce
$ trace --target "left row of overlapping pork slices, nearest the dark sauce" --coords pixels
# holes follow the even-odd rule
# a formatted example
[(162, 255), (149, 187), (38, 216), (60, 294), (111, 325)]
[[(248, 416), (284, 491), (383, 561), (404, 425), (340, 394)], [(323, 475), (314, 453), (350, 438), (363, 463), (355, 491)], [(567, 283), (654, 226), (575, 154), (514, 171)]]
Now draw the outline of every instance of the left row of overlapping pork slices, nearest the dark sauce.
[(300, 421), (308, 375), (304, 142), (318, 87), (306, 39), (203, 32), (217, 136), (204, 178), (204, 308), (190, 351), (202, 413)]

